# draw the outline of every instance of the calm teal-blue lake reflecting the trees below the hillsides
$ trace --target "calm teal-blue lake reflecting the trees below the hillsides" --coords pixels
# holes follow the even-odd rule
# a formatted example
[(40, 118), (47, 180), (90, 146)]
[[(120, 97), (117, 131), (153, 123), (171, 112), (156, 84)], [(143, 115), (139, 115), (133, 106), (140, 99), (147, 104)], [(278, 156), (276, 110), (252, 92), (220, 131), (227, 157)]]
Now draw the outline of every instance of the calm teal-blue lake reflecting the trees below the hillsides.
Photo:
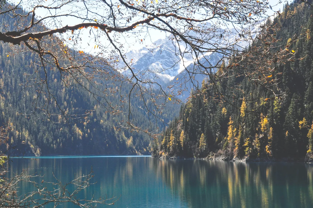
[[(13, 159), (9, 175), (28, 169), (38, 182), (69, 182), (94, 170), (81, 197), (117, 196), (99, 207), (313, 207), (313, 165), (215, 160), (160, 160), (151, 157), (39, 157)], [(20, 193), (33, 190), (23, 183)], [(62, 205), (60, 207), (74, 207)]]

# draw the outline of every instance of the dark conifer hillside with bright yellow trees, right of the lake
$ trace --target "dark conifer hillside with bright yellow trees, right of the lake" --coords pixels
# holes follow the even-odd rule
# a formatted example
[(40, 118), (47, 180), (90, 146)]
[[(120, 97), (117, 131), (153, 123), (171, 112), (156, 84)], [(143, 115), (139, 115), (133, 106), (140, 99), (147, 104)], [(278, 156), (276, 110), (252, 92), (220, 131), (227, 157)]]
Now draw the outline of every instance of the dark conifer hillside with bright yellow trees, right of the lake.
[[(230, 67), (228, 78), (206, 79), (193, 92), (162, 138), (155, 140), (154, 156), (312, 158), (311, 18), (310, 6), (295, 1), (271, 23), (281, 26), (275, 44), (284, 44), (295, 54), (294, 60), (273, 66), (275, 73), (260, 74), (269, 81), (278, 79), (273, 89), (280, 95)], [(297, 36), (302, 38), (290, 45)]]

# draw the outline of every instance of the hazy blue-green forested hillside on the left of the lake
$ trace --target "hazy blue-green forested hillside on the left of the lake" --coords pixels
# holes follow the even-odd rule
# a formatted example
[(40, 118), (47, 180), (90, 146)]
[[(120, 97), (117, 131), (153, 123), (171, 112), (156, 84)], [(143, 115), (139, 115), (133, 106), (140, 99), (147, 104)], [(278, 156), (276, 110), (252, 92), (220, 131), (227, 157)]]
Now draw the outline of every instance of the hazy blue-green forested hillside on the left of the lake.
[[(16, 22), (13, 18), (1, 15), (0, 19), (2, 22), (9, 22), (9, 27), (14, 29)], [(2, 24), (1, 30), (8, 25)], [(151, 137), (148, 134), (131, 132), (129, 129), (117, 131), (114, 128), (120, 125), (119, 122), (127, 121), (128, 113), (110, 114), (106, 107), (101, 105), (103, 102), (97, 102), (93, 94), (80, 85), (65, 86), (60, 80), (60, 73), (53, 70), (47, 71), (47, 82), (49, 91), (57, 102), (50, 102), (49, 112), (45, 111), (47, 105), (45, 96), (48, 95), (44, 93), (38, 95), (40, 87), (31, 84), (34, 79), (43, 79), (42, 74), (35, 73), (38, 67), (35, 56), (31, 52), (15, 53), (8, 44), (0, 43), (0, 123), (11, 127), (8, 144), (1, 147), (3, 151), (11, 146), (15, 147), (13, 150), (15, 155), (150, 153)], [(110, 96), (104, 94), (106, 100), (112, 106), (122, 106), (118, 90), (115, 94), (105, 91), (107, 85), (114, 84), (118, 89), (117, 86), (121, 83), (104, 80), (101, 84), (102, 90), (110, 94)], [(124, 84), (122, 90), (127, 92), (130, 86)], [(136, 118), (134, 125), (148, 129), (149, 120), (146, 111), (140, 108), (140, 103), (139, 98), (133, 98), (131, 102), (131, 115)], [(127, 106), (125, 109), (127, 112)], [(56, 123), (52, 122), (52, 119), (49, 120), (48, 115), (50, 117), (55, 115), (55, 118), (62, 114), (61, 110), (67, 115), (74, 115), (73, 117), (80, 114), (83, 116), (77, 116), (81, 119), (69, 119), (67, 122), (60, 117), (60, 123), (58, 120)], [(168, 122), (167, 112), (174, 115), (178, 111), (179, 107), (169, 105), (159, 116)], [(86, 112), (91, 113), (84, 115)]]

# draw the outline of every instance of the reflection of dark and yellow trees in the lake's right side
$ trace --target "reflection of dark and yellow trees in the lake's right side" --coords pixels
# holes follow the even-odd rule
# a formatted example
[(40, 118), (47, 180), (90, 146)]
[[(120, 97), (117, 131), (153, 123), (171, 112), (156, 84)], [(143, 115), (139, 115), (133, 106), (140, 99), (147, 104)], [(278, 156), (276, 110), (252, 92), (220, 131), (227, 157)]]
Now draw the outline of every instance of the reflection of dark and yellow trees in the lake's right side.
[(313, 166), (160, 160), (157, 174), (190, 207), (312, 207)]

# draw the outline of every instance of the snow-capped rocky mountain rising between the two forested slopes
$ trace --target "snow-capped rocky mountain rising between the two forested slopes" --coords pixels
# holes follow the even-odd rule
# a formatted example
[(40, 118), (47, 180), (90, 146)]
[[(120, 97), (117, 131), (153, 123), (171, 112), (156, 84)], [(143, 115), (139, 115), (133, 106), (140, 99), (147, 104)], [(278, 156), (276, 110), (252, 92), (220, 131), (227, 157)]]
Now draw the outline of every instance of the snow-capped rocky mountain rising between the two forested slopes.
[[(208, 27), (208, 25), (205, 26)], [(257, 27), (249, 28), (249, 31), (252, 32), (256, 30)], [(244, 40), (235, 30), (227, 32), (224, 29), (218, 29), (214, 31), (214, 34), (201, 34), (201, 36), (193, 31), (191, 33), (192, 37), (199, 36), (198, 39), (206, 40), (205, 42), (207, 43), (202, 45), (203, 47), (207, 47), (208, 44), (212, 44), (212, 46), (210, 45), (211, 48), (214, 48), (214, 44), (223, 44), (225, 46), (235, 44), (233, 47), (241, 47), (243, 49), (249, 45), (249, 41)], [(142, 80), (158, 82), (162, 87), (175, 86), (176, 80), (179, 80), (184, 82), (184, 88), (187, 87), (189, 89), (197, 85), (197, 83), (188, 82), (190, 73), (187, 73), (187, 70), (196, 69), (198, 67), (195, 64), (197, 61), (206, 66), (215, 66), (220, 64), (223, 59), (224, 57), (219, 51), (206, 52), (195, 58), (190, 53), (190, 49), (184, 47), (183, 44), (177, 44), (172, 36), (159, 39), (151, 45), (126, 53), (126, 60), (130, 63), (136, 75)], [(120, 64), (123, 65), (123, 63)], [(126, 76), (131, 76), (130, 70), (127, 69), (122, 73)], [(203, 75), (194, 75), (194, 81), (200, 84), (204, 78), (205, 76)]]

